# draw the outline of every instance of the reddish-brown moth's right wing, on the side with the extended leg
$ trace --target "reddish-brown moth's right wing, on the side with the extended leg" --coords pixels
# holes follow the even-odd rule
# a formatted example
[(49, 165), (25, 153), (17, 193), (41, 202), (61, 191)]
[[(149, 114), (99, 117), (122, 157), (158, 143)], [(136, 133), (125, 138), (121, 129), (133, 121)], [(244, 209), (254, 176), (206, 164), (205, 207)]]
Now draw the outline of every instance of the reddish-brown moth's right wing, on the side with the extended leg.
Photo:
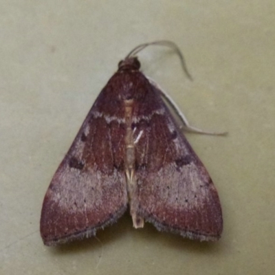
[(152, 86), (138, 112), (133, 119), (137, 189), (132, 211), (157, 230), (201, 241), (219, 239), (223, 220), (217, 190), (157, 87)]

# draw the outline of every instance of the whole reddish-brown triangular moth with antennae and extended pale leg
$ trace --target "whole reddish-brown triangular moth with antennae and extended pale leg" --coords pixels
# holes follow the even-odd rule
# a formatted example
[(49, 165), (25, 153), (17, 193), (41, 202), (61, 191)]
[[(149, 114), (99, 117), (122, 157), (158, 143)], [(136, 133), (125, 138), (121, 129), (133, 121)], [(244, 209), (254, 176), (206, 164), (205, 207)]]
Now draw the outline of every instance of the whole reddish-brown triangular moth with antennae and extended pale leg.
[(173, 100), (140, 72), (135, 55), (148, 45), (172, 47), (190, 76), (170, 41), (139, 45), (120, 61), (45, 194), (40, 224), (45, 245), (93, 236), (127, 206), (134, 228), (148, 221), (189, 239), (220, 238), (217, 190), (167, 104), (181, 126), (207, 132), (190, 126)]

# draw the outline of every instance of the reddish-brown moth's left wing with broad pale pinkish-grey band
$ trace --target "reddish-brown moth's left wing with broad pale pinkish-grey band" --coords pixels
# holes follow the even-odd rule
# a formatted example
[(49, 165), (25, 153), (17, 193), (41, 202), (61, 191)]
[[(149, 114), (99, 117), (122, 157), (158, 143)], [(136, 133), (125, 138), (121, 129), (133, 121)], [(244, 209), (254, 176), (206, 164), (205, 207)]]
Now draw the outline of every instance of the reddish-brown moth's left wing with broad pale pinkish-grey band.
[(120, 106), (106, 93), (98, 96), (47, 190), (41, 212), (45, 245), (94, 235), (126, 210), (123, 113), (110, 113)]

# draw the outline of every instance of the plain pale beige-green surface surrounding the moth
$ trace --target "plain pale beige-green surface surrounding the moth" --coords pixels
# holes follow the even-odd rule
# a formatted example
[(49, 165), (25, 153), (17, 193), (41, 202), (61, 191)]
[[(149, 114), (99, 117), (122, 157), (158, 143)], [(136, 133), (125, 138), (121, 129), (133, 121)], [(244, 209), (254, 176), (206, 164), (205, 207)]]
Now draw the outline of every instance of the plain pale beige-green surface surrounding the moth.
[[(252, 1), (0, 3), (0, 274), (274, 274), (275, 4)], [(145, 74), (190, 122), (223, 206), (218, 243), (188, 241), (126, 214), (98, 239), (46, 248), (41, 204), (58, 164), (118, 61), (139, 43)], [(100, 241), (98, 241), (100, 240)]]

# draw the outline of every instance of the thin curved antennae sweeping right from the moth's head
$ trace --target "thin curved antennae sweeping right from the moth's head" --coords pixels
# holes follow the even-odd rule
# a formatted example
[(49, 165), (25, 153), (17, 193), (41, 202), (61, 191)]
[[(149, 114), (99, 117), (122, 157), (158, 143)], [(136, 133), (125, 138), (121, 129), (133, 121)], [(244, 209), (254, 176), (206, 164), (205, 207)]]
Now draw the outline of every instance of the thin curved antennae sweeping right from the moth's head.
[(177, 47), (177, 44), (175, 44), (172, 41), (159, 40), (159, 41), (153, 41), (150, 43), (140, 44), (137, 47), (135, 47), (133, 50), (131, 50), (131, 52), (129, 52), (129, 54), (127, 54), (125, 59), (135, 56), (138, 52), (141, 52), (142, 50), (144, 50), (144, 48), (151, 46), (151, 45), (170, 47), (172, 50), (174, 50), (176, 52), (176, 54), (179, 56), (179, 60), (181, 62), (181, 67), (182, 67), (182, 69), (184, 69), (184, 73), (190, 80), (192, 80), (192, 76), (189, 74), (187, 66), (186, 66), (186, 62), (184, 60), (184, 55), (181, 53), (181, 50), (179, 50), (179, 47)]

